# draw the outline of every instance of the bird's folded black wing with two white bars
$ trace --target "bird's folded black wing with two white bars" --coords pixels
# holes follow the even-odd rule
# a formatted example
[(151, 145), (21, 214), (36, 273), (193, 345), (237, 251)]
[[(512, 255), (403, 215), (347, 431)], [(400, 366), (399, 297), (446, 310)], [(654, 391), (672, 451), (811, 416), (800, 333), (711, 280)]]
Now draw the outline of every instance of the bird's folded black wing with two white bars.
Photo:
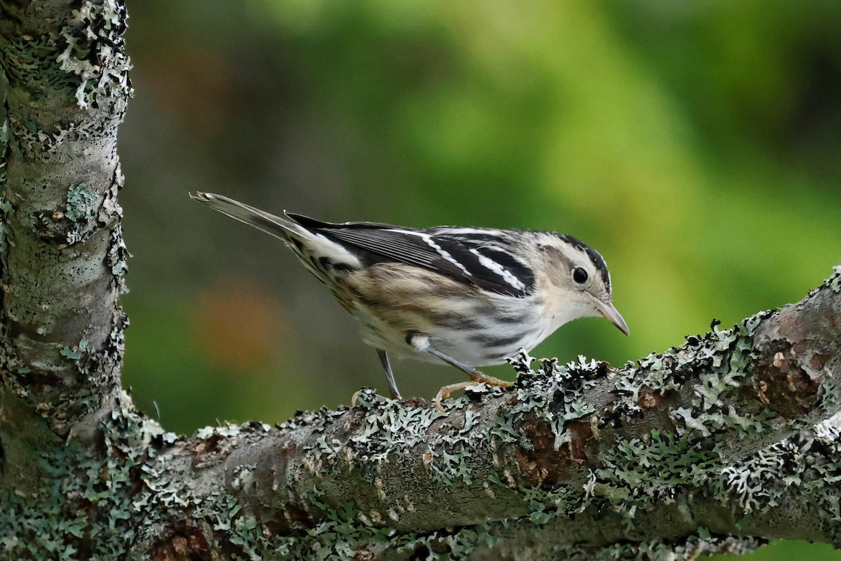
[(511, 251), (513, 243), (500, 230), (440, 226), (415, 230), (374, 222), (332, 224), (301, 214), (287, 216), (356, 250), (363, 262), (402, 262), (455, 278), (463, 283), (510, 296), (532, 293), (531, 267)]

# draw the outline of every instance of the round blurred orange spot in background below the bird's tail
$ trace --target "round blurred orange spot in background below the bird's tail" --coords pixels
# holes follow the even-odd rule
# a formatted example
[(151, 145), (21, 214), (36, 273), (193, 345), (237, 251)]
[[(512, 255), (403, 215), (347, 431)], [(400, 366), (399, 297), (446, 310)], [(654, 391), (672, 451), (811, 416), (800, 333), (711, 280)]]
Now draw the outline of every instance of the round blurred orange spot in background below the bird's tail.
[(283, 304), (244, 278), (221, 278), (199, 295), (193, 337), (209, 363), (232, 374), (266, 368), (287, 332)]

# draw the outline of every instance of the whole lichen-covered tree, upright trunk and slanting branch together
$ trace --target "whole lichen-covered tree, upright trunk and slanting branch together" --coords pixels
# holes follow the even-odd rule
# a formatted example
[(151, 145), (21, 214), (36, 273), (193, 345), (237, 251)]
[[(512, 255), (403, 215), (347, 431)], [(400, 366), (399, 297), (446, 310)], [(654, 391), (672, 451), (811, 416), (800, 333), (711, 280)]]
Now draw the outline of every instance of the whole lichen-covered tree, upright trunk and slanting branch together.
[(513, 361), (449, 415), (193, 437), (119, 386), (119, 0), (0, 0), (0, 559), (660, 558), (841, 544), (841, 268), (621, 369)]

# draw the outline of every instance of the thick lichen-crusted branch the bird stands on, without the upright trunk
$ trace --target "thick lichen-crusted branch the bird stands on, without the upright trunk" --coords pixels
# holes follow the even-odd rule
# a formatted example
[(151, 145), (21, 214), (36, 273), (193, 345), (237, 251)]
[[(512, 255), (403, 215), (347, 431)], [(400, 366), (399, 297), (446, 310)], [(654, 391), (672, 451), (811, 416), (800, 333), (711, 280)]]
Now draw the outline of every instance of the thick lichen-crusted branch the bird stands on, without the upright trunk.
[(839, 290), (836, 273), (798, 304), (620, 370), (518, 357), (514, 391), (471, 392), (447, 416), (368, 391), (274, 430), (200, 431), (161, 461), (225, 480), (256, 542), (301, 554), (327, 535), (409, 558), (463, 532), (493, 558), (523, 558), (524, 543), (549, 557), (837, 543)]

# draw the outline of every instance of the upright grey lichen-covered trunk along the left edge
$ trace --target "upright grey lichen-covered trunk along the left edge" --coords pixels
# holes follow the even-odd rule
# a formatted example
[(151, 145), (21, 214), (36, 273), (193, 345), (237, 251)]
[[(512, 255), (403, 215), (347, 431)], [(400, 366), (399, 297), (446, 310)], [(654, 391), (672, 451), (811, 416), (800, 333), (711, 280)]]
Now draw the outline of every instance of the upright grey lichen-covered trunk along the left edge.
[(124, 27), (116, 3), (0, 3), (6, 490), (40, 473), (46, 443), (98, 442), (119, 402)]

